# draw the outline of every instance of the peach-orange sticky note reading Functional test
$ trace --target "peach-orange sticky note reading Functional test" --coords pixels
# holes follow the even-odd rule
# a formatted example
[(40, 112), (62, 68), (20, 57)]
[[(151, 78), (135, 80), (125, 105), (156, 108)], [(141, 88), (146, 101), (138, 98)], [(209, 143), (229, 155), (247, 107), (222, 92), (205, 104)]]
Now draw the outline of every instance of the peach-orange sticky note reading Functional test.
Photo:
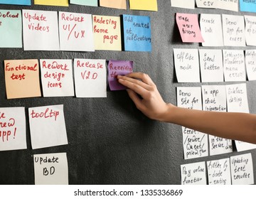
[(4, 60), (7, 99), (41, 97), (38, 60)]

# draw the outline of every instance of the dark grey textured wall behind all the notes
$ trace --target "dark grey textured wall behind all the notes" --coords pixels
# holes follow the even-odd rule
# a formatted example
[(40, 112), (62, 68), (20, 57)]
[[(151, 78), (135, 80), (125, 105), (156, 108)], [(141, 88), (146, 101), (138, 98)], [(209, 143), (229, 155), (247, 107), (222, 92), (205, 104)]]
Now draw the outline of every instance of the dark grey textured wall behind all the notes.
[[(128, 4), (128, 1), (127, 1)], [(132, 11), (102, 7), (77, 6), (8, 6), (0, 9), (35, 9), (70, 11), (85, 14), (121, 16), (134, 14), (151, 16), (151, 53), (100, 50), (94, 53), (23, 51), (18, 48), (0, 49), (0, 107), (26, 107), (28, 149), (0, 151), (0, 184), (33, 184), (33, 154), (66, 152), (70, 184), (180, 184), (180, 166), (184, 163), (228, 158), (245, 151), (191, 160), (183, 159), (181, 127), (147, 119), (140, 113), (127, 92), (107, 92), (107, 98), (78, 99), (75, 97), (38, 97), (6, 99), (4, 60), (32, 58), (92, 58), (133, 60), (134, 71), (146, 72), (166, 102), (176, 104), (176, 87), (201, 86), (201, 83), (177, 83), (174, 72), (173, 48), (202, 48), (197, 43), (182, 43), (175, 23), (175, 13), (235, 14), (215, 9), (176, 9), (170, 0), (158, 1), (159, 11)], [(231, 49), (228, 47), (218, 49)], [(251, 49), (235, 48), (235, 49)], [(227, 84), (226, 82), (221, 85)], [(250, 112), (256, 113), (255, 82), (247, 82)], [(31, 149), (28, 127), (28, 107), (64, 104), (68, 145), (46, 149)], [(256, 164), (256, 163), (255, 163)], [(256, 172), (256, 165), (254, 166)]]

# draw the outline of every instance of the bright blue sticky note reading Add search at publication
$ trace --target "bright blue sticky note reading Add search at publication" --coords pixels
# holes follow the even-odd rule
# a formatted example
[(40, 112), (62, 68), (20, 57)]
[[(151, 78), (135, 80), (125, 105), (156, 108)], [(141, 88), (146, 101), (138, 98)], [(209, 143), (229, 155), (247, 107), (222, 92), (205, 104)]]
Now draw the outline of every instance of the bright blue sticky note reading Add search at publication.
[(149, 16), (123, 15), (124, 50), (151, 52)]

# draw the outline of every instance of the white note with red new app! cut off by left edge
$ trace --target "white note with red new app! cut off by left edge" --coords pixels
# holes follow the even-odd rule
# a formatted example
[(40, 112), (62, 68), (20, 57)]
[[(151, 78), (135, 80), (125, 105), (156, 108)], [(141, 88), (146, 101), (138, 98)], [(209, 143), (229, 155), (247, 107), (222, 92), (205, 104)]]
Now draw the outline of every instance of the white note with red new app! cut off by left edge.
[(27, 149), (25, 108), (0, 108), (0, 151), (18, 149)]

